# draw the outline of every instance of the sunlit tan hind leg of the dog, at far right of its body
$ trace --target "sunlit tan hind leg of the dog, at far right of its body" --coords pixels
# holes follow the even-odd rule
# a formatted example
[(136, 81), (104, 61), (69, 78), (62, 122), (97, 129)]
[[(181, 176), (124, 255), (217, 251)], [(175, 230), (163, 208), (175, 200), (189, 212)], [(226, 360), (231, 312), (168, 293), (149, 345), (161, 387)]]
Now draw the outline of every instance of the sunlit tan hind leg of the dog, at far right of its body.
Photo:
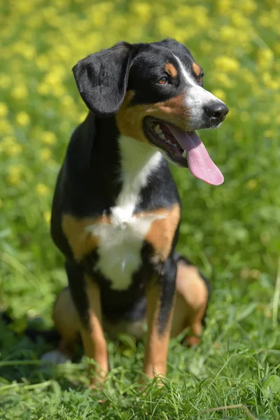
[[(182, 260), (177, 265), (176, 300), (172, 322), (172, 337), (185, 328), (195, 335), (202, 335), (202, 319), (207, 307), (208, 290), (194, 265), (186, 265)], [(199, 337), (186, 337), (188, 345), (200, 342)]]

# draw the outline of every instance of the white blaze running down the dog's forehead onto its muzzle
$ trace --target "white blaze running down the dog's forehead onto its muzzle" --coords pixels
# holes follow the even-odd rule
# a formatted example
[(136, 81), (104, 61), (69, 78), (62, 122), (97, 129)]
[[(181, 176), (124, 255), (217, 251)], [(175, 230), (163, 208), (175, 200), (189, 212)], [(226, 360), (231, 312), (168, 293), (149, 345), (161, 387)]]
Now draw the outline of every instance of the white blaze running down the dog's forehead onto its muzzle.
[(208, 90), (205, 90), (203, 87), (197, 85), (188, 71), (186, 71), (181, 59), (179, 59), (176, 55), (174, 55), (174, 57), (176, 58), (181, 73), (183, 74), (183, 78), (186, 80), (188, 85), (186, 88), (185, 105), (190, 110), (190, 122), (187, 128), (188, 130), (195, 130), (201, 124), (202, 116), (204, 114), (204, 106), (207, 106), (207, 104), (210, 103), (213, 104), (214, 102), (216, 102), (216, 104), (223, 105), (224, 103), (221, 99), (214, 96), (214, 94), (211, 94)]

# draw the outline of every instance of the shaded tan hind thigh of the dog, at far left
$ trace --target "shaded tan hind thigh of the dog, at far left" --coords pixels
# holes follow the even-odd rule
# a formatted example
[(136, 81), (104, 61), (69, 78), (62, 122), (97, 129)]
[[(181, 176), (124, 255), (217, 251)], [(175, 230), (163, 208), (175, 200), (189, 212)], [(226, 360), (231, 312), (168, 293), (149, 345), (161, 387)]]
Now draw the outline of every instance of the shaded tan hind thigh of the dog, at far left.
[(68, 358), (73, 358), (73, 349), (78, 339), (80, 323), (78, 312), (73, 304), (70, 290), (62, 290), (53, 308), (55, 328), (61, 335), (58, 350)]

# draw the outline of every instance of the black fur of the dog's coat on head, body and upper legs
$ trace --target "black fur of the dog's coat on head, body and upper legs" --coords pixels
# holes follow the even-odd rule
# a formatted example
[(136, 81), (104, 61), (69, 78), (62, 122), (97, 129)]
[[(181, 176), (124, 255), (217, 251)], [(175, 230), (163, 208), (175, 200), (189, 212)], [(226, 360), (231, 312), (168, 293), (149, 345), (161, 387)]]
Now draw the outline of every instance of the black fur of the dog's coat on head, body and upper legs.
[[(155, 52), (158, 52), (156, 60)], [(118, 144), (120, 132), (115, 114), (127, 89), (135, 92), (131, 106), (164, 102), (180, 94), (183, 87), (179, 87), (179, 80), (174, 80), (174, 84), (164, 90), (155, 83), (162, 76), (165, 62), (176, 64), (174, 54), (191, 68), (193, 57), (189, 50), (173, 40), (134, 45), (118, 43), (109, 50), (82, 59), (73, 67), (78, 90), (90, 112), (73, 132), (59, 172), (52, 204), (51, 234), (66, 258), (71, 295), (85, 325), (88, 308), (83, 280), (85, 272), (93, 274), (99, 284), (104, 316), (115, 320), (125, 316), (134, 319), (135, 314), (143, 314), (145, 288), (151, 279), (156, 278), (161, 286), (158, 326), (161, 333), (167, 324), (175, 288), (176, 259), (173, 253), (179, 229), (174, 235), (172, 251), (164, 263), (155, 264), (151, 245), (144, 243), (141, 251), (142, 265), (134, 273), (130, 287), (127, 290), (113, 290), (111, 281), (94, 268), (99, 258), (98, 250), (85, 255), (80, 262), (75, 261), (62, 231), (62, 216), (71, 214), (80, 219), (110, 216), (111, 208), (116, 204), (123, 185)], [(193, 78), (195, 80), (195, 74)], [(176, 184), (164, 158), (157, 170), (151, 173), (148, 184), (142, 188), (140, 195), (141, 200), (134, 209), (134, 214), (170, 208), (174, 204), (181, 207)]]

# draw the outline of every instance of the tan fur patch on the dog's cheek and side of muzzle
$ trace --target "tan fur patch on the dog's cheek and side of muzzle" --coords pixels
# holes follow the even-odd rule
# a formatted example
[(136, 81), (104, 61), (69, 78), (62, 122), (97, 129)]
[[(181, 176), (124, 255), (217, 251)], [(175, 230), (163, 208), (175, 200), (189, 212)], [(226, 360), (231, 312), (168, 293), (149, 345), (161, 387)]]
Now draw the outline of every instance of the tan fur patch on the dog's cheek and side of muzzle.
[(181, 130), (186, 130), (189, 110), (184, 105), (183, 94), (165, 102), (131, 106), (131, 92), (131, 90), (127, 92), (123, 104), (116, 115), (120, 134), (150, 144), (143, 130), (143, 120), (146, 116), (159, 118), (166, 123), (176, 125)]

